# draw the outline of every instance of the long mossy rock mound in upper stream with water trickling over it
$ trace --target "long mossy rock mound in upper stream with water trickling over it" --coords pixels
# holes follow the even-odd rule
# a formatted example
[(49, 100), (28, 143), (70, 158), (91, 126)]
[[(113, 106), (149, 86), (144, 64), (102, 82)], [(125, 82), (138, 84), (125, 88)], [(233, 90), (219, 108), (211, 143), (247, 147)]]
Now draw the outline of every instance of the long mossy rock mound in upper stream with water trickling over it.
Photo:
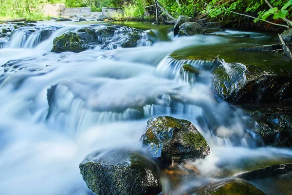
[(97, 44), (103, 44), (101, 49), (136, 47), (143, 37), (142, 30), (126, 26), (114, 25), (99, 30), (93, 27), (82, 28), (55, 38), (52, 52), (82, 52)]

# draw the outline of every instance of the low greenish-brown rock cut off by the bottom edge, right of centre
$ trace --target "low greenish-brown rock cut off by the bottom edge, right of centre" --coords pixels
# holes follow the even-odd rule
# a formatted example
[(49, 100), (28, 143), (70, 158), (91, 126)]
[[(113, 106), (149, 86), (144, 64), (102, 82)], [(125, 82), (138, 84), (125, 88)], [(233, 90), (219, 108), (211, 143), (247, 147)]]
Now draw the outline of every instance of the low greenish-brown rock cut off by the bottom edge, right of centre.
[(241, 180), (224, 180), (193, 190), (198, 195), (265, 195), (252, 184)]

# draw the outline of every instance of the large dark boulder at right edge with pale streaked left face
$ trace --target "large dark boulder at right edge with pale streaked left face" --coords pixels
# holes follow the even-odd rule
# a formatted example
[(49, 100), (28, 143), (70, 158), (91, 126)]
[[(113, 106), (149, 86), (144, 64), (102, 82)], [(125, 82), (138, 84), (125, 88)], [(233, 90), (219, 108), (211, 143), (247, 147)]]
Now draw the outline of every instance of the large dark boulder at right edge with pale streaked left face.
[(213, 72), (218, 96), (233, 104), (292, 99), (292, 73), (266, 74), (240, 63), (223, 63)]

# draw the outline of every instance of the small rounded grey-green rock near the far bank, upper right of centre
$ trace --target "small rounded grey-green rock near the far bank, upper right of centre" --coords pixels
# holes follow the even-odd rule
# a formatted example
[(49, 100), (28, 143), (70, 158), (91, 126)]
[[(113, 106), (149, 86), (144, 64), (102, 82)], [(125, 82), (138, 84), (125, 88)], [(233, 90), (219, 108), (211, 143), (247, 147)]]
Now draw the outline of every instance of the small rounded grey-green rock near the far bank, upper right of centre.
[(184, 22), (180, 26), (179, 36), (192, 36), (192, 35), (201, 35), (206, 31), (201, 24), (196, 22)]

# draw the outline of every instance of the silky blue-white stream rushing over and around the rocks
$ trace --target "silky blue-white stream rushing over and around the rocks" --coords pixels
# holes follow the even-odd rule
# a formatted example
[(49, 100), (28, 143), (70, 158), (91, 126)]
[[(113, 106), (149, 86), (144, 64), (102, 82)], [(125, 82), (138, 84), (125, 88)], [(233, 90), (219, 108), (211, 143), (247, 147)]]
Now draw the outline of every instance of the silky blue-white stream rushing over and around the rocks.
[[(262, 162), (292, 161), (290, 149), (256, 146), (255, 135), (246, 127), (249, 118), (216, 95), (208, 64), (189, 60), (202, 73), (198, 78), (181, 77), (185, 62), (169, 57), (174, 51), (212, 58), (220, 55), (227, 71), (229, 62), (268, 59), (279, 64), (265, 54), (247, 58), (235, 50), (269, 42), (271, 35), (227, 30), (177, 38), (171, 27), (131, 24), (141, 25), (156, 41), (128, 49), (97, 46), (81, 53), (52, 53), (54, 38), (85, 24), (43, 22), (37, 29), (22, 27), (0, 49), (1, 195), (91, 194), (79, 163), (95, 150), (141, 148), (146, 122), (155, 116), (190, 120), (211, 148), (211, 155), (190, 162), (200, 170), (200, 178), (184, 178), (172, 189), (169, 178), (163, 176), (164, 194), (179, 193), (218, 180), (216, 175), (228, 177), (229, 172), (240, 173)], [(45, 40), (40, 35), (43, 28), (50, 30)], [(291, 176), (252, 183), (271, 195), (291, 192)], [(269, 183), (273, 186), (267, 187)]]

